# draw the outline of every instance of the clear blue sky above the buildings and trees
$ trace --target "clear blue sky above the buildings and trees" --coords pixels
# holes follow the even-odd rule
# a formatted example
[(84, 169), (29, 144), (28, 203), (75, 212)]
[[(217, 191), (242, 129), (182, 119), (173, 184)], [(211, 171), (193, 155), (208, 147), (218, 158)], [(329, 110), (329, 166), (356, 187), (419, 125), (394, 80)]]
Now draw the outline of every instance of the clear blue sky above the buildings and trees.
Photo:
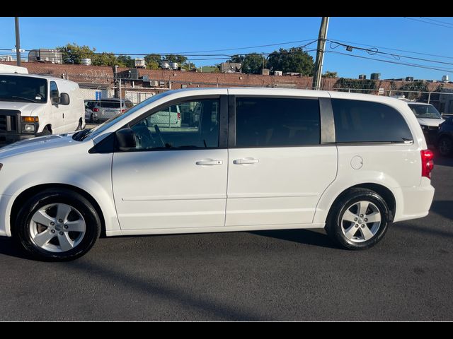
[[(381, 73), (381, 78), (414, 78), (440, 80), (442, 75), (453, 78), (453, 18), (337, 18), (332, 17), (328, 26), (328, 39), (347, 41), (347, 44), (378, 47), (379, 52), (401, 54), (442, 61), (447, 64), (404, 59), (391, 55), (369, 55), (353, 49), (327, 43), (323, 71), (336, 71), (339, 76), (357, 78), (359, 74)], [(425, 22), (421, 22), (423, 20)], [(437, 20), (437, 21), (435, 21)], [(441, 23), (442, 22), (442, 23)], [(21, 48), (52, 48), (76, 42), (96, 47), (97, 52), (115, 53), (169, 53), (198, 52), (212, 49), (235, 49), (204, 54), (239, 54), (273, 52), (280, 47), (289, 48), (306, 44), (318, 37), (321, 18), (20, 18)], [(431, 24), (430, 24), (431, 23)], [(448, 25), (451, 23), (451, 25)], [(437, 24), (437, 25), (436, 25)], [(445, 27), (447, 26), (447, 27)], [(12, 49), (15, 45), (14, 18), (0, 18), (0, 49)], [(296, 42), (308, 40), (306, 42)], [(293, 42), (281, 44), (283, 42)], [(270, 47), (237, 49), (264, 44), (280, 44)], [(337, 46), (337, 47), (336, 47)], [(336, 47), (333, 49), (332, 47)], [(316, 43), (306, 47), (316, 48)], [(367, 47), (365, 47), (367, 48)], [(371, 48), (371, 47), (369, 47)], [(439, 57), (410, 52), (436, 54)], [(342, 52), (347, 56), (333, 52)], [(0, 54), (6, 53), (1, 51)], [(9, 52), (9, 54), (13, 54)], [(314, 52), (310, 52), (315, 55)], [(412, 63), (435, 69), (422, 69), (389, 64), (356, 55), (391, 62)], [(212, 57), (189, 57), (197, 66), (224, 61), (197, 60)]]

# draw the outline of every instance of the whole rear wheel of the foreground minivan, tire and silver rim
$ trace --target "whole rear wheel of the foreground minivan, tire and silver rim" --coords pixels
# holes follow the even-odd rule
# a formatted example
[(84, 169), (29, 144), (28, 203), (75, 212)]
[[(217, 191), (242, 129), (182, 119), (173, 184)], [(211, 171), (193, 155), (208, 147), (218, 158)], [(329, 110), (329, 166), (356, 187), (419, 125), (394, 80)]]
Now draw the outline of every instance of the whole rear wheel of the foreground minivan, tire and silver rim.
[[(360, 208), (362, 211), (367, 208), (362, 217)], [(388, 225), (389, 207), (382, 196), (369, 189), (357, 188), (350, 189), (333, 203), (326, 232), (344, 249), (369, 249), (384, 237)]]

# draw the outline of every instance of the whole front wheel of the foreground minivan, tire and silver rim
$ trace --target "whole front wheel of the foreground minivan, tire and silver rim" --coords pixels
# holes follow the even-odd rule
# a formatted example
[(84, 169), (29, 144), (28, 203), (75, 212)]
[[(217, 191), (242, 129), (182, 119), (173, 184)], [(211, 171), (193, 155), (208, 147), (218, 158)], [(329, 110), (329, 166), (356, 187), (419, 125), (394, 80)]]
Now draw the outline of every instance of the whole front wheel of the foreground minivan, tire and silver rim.
[(23, 204), (12, 231), (33, 258), (69, 261), (91, 249), (101, 233), (101, 220), (84, 196), (69, 189), (45, 189)]

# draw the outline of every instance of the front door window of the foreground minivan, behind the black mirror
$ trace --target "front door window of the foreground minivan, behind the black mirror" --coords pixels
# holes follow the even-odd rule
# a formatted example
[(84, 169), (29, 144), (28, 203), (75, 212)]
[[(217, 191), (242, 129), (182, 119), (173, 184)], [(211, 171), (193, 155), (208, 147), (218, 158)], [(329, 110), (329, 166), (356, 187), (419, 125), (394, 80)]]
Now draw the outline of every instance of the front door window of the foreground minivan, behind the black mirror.
[(137, 150), (219, 147), (219, 100), (181, 102), (132, 126)]

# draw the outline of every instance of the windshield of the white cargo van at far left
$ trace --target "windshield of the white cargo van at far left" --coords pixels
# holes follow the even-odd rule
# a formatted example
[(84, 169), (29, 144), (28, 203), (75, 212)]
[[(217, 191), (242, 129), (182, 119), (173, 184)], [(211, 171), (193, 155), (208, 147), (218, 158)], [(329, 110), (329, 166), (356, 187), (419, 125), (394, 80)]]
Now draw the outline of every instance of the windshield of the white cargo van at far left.
[(47, 102), (47, 80), (28, 76), (0, 76), (0, 100)]

